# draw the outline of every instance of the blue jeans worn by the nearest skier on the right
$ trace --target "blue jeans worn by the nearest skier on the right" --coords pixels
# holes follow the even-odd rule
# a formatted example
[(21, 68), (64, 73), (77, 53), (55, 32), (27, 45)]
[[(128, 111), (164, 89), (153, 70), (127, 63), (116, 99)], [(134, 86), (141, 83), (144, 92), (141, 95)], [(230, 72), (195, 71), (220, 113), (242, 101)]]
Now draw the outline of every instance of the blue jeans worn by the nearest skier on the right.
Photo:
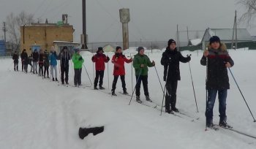
[(227, 99), (227, 89), (217, 90), (217, 89), (209, 89), (208, 90), (208, 101), (206, 105), (206, 122), (211, 123), (213, 119), (213, 110), (214, 103), (218, 92), (219, 98), (219, 120), (224, 121), (227, 118), (226, 115), (226, 99)]

